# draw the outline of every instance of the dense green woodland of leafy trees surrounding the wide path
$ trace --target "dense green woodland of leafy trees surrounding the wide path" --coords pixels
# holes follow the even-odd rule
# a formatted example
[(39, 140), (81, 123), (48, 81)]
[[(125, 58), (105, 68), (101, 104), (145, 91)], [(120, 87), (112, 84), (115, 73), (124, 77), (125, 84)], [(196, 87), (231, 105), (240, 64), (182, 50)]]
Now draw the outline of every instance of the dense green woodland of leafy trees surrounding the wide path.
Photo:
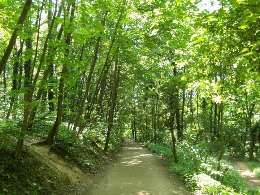
[(225, 155), (260, 172), (258, 0), (2, 0), (0, 58), (3, 178), (26, 140), (76, 155), (128, 136), (191, 192), (253, 193)]

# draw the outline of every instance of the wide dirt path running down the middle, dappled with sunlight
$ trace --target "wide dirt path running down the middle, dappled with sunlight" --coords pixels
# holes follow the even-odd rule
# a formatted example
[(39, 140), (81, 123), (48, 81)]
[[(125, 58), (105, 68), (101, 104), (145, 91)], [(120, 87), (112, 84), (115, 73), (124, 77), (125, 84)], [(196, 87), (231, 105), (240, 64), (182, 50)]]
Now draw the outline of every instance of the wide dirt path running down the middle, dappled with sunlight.
[(165, 160), (126, 138), (119, 158), (89, 195), (189, 194), (180, 179), (169, 174)]

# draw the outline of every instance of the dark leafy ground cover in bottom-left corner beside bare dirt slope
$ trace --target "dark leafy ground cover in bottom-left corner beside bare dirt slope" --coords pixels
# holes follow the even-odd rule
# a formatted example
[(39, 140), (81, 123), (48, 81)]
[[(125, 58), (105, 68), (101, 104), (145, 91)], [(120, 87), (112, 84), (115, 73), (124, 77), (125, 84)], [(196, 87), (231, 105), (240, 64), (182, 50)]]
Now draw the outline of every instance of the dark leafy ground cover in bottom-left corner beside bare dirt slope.
[[(53, 177), (43, 165), (35, 160), (27, 150), (19, 160), (12, 159), (11, 145), (2, 145), (0, 149), (0, 193), (7, 194), (40, 194), (50, 193), (50, 184), (42, 175)], [(39, 169), (39, 167), (41, 167)]]

